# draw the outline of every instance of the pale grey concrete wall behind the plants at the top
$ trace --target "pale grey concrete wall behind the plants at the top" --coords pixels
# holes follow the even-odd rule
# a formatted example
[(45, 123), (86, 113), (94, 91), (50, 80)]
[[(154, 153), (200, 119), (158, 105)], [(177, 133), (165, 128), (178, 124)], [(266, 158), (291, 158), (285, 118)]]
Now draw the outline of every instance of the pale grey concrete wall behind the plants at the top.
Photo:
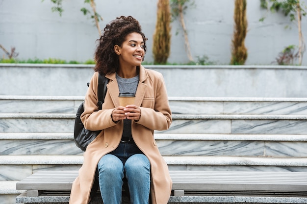
[[(152, 36), (156, 21), (157, 0), (96, 0), (103, 17), (101, 28), (121, 15), (138, 19), (149, 38), (145, 61), (153, 62)], [(227, 65), (230, 62), (233, 33), (234, 0), (195, 0), (185, 13), (192, 55), (208, 56), (209, 61)], [(99, 37), (94, 23), (84, 17), (83, 0), (63, 0), (62, 17), (51, 12), (50, 0), (0, 0), (0, 44), (15, 46), (20, 59), (60, 58), (67, 61), (92, 59), (95, 40)], [(281, 13), (260, 8), (260, 0), (248, 0), (247, 65), (269, 65), (288, 45), (298, 45), (295, 23)], [(258, 20), (266, 16), (264, 22)], [(291, 29), (285, 29), (285, 26)], [(303, 17), (303, 35), (307, 39), (307, 17)], [(178, 33), (178, 34), (176, 34)], [(4, 54), (0, 50), (0, 55)], [(169, 62), (185, 63), (184, 40), (179, 21), (172, 23), (172, 46)], [(303, 60), (307, 65), (307, 58)]]

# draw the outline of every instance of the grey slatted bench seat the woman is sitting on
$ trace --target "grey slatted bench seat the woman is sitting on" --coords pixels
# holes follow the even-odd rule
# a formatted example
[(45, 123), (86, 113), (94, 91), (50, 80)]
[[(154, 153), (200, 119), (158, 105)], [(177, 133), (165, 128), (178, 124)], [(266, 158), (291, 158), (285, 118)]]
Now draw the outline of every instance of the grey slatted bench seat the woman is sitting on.
[[(41, 171), (17, 190), (71, 190), (77, 171)], [(170, 171), (173, 190), (307, 192), (307, 172)]]

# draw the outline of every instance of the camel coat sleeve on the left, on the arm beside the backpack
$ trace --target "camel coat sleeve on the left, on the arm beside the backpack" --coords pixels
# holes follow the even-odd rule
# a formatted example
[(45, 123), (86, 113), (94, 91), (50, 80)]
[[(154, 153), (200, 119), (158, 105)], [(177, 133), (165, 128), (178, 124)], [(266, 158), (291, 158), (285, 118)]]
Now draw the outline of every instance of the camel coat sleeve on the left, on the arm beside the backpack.
[(98, 102), (98, 72), (91, 78), (90, 86), (84, 99), (84, 112), (80, 118), (85, 129), (91, 131), (104, 130), (116, 125), (112, 121), (111, 114), (114, 109), (99, 110)]

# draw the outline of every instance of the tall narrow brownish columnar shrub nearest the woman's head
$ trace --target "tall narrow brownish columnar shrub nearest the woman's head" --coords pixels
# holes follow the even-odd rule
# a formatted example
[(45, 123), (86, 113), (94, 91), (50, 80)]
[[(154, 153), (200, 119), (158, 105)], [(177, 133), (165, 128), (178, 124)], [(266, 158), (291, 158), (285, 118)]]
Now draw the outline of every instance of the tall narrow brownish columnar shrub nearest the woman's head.
[(153, 34), (154, 64), (166, 64), (171, 46), (171, 14), (169, 0), (158, 0), (157, 20)]

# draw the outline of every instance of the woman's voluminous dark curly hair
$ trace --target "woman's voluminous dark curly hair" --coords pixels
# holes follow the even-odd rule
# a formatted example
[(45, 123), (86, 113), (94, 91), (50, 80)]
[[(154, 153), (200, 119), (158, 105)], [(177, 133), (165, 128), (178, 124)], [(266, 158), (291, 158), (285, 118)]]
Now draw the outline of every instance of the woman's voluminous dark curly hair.
[(122, 46), (127, 35), (133, 32), (142, 35), (144, 50), (146, 53), (145, 42), (148, 39), (142, 32), (140, 23), (132, 16), (117, 17), (115, 20), (105, 26), (102, 36), (97, 40), (99, 45), (97, 45), (95, 51), (96, 66), (94, 70), (101, 74), (116, 72), (116, 70), (119, 68), (119, 57), (114, 52), (114, 45)]

